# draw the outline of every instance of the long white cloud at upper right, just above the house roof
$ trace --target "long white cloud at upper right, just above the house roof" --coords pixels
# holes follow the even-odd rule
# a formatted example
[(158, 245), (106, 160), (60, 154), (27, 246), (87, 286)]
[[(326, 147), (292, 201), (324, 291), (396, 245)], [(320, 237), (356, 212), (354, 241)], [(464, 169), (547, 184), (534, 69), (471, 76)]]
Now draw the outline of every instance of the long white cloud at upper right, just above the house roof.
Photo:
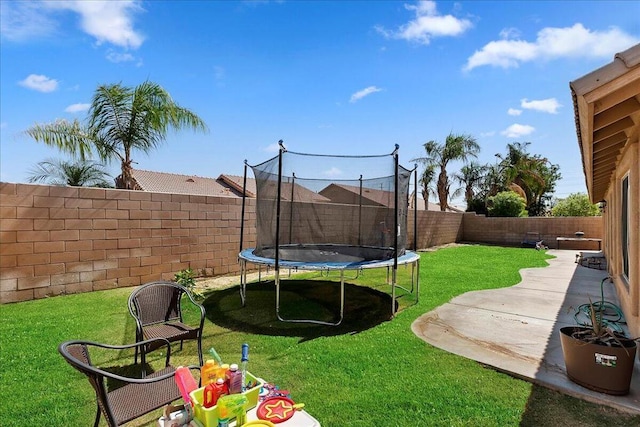
[(617, 27), (592, 31), (580, 23), (543, 28), (533, 42), (518, 39), (513, 29), (503, 30), (501, 37), (471, 55), (464, 69), (470, 71), (483, 65), (515, 68), (524, 62), (557, 58), (610, 58), (640, 41)]

